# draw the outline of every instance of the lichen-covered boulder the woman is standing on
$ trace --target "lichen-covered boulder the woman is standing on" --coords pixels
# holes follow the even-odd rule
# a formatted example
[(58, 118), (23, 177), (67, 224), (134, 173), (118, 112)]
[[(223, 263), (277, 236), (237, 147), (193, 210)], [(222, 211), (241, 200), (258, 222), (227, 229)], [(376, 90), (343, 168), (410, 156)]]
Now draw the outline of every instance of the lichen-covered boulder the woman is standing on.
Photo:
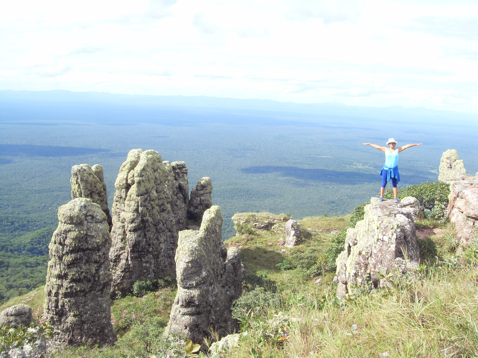
[(364, 219), (347, 230), (345, 250), (337, 257), (338, 297), (350, 293), (355, 284), (363, 286), (367, 275), (379, 286), (379, 268), (403, 273), (418, 265), (415, 220), (423, 217), (418, 201), (413, 197), (400, 203), (372, 198), (364, 211)]

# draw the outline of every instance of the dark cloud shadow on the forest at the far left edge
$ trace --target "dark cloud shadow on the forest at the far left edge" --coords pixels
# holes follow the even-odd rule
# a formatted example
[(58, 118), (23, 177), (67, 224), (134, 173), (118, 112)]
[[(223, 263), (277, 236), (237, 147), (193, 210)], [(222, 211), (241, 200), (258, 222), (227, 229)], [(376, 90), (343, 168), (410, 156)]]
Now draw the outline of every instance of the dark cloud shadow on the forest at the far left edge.
[[(88, 154), (109, 153), (108, 149), (34, 146), (30, 144), (0, 144), (0, 155), (10, 157), (74, 157)], [(116, 156), (116, 153), (109, 153)]]

